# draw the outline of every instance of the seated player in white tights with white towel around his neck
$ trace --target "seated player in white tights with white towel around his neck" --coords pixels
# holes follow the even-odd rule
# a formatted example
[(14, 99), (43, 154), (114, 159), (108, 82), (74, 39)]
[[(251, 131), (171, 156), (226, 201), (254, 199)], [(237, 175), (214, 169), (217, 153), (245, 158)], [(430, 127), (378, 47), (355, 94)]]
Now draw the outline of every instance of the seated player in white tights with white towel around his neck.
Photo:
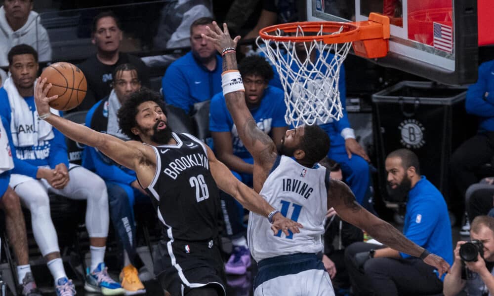
[(15, 165), (9, 185), (31, 212), (33, 234), (55, 280), (56, 292), (76, 294), (60, 257), (48, 192), (87, 200), (85, 224), (91, 264), (85, 289), (101, 291), (104, 295), (122, 294), (124, 290), (110, 278), (103, 261), (109, 222), (106, 185), (91, 171), (69, 164), (64, 136), (41, 120), (36, 111), (34, 82), (39, 70), (36, 50), (26, 44), (16, 45), (10, 49), (8, 60), (11, 77), (0, 89), (0, 116), (3, 126), (10, 127), (7, 134)]

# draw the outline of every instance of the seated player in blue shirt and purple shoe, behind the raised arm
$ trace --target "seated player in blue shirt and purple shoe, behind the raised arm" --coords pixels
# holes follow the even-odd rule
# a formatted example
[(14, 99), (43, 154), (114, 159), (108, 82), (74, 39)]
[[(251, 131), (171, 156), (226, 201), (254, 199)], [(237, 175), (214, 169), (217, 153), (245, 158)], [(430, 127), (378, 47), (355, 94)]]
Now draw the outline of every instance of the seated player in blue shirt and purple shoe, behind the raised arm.
[[(268, 85), (268, 81), (273, 77), (271, 66), (264, 58), (251, 56), (242, 60), (239, 70), (244, 79), (246, 104), (257, 126), (264, 133), (269, 134), (274, 143), (281, 144), (288, 130), (285, 122), (287, 107), (283, 99), (283, 91)], [(232, 170), (237, 179), (252, 187), (254, 160), (239, 138), (237, 127), (226, 108), (223, 93), (218, 93), (211, 99), (209, 130), (218, 159)], [(250, 265), (250, 254), (244, 233), (244, 209), (233, 197), (223, 194), (221, 197), (225, 228), (232, 238), (234, 250), (225, 265), (225, 271), (229, 274), (245, 274)]]

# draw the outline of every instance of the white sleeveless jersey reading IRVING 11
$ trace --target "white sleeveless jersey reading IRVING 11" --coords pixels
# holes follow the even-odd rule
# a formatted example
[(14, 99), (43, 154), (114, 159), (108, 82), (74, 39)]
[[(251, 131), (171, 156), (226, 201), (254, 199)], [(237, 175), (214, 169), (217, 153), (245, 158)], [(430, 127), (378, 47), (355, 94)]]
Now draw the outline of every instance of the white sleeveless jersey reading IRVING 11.
[(250, 212), (247, 240), (252, 257), (262, 259), (295, 253), (318, 253), (323, 249), (321, 234), (328, 211), (329, 170), (316, 164), (300, 165), (279, 156), (259, 193), (283, 216), (301, 223), (300, 233), (273, 235), (266, 217)]

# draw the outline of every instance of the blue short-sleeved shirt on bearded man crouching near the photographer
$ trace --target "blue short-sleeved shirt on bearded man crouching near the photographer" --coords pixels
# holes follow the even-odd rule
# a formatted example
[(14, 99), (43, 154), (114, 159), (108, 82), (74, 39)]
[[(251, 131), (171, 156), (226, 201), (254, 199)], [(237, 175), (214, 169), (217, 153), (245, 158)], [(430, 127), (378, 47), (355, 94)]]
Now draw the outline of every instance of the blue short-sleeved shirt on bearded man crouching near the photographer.
[[(453, 264), (450, 216), (443, 195), (422, 176), (408, 194), (403, 234)], [(410, 255), (400, 253), (402, 258)]]

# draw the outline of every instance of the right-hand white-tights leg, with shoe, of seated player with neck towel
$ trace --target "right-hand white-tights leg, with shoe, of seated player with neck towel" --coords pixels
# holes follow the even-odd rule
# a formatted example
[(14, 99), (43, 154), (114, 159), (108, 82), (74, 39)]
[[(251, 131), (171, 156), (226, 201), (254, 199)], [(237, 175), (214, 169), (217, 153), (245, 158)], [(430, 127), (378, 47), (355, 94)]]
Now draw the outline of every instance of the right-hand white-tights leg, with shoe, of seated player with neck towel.
[(108, 275), (104, 263), (110, 222), (105, 182), (93, 172), (73, 164), (69, 167), (69, 177), (70, 181), (63, 189), (49, 187), (49, 190), (67, 198), (87, 201), (85, 223), (89, 234), (91, 265), (84, 289), (103, 295), (124, 294), (120, 284)]

